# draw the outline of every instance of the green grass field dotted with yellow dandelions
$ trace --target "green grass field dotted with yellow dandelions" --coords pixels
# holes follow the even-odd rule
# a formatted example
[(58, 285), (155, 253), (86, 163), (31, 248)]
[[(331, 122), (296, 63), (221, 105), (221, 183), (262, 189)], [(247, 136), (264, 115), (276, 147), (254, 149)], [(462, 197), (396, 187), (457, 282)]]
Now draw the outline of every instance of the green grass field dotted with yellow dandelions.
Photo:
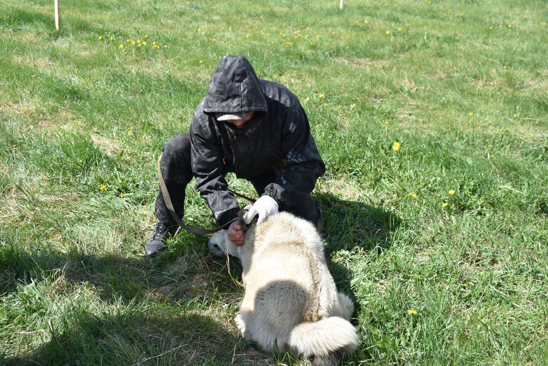
[(239, 338), (207, 237), (142, 254), (158, 154), (225, 54), (309, 115), (347, 365), (548, 364), (547, 2), (338, 5), (61, 0), (56, 32), (53, 0), (0, 2), (0, 364), (309, 364)]

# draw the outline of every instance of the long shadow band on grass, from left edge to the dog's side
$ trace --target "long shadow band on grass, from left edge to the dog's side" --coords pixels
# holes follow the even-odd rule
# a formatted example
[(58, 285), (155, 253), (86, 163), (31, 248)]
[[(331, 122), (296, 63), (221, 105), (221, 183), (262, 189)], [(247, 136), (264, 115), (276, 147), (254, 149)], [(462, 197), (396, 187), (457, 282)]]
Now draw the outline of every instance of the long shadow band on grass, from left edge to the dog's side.
[[(1, 231), (0, 241), (10, 243)], [(179, 304), (197, 297), (219, 300), (222, 294), (238, 292), (229, 276), (219, 274), (225, 264), (212, 260), (207, 250), (191, 245), (177, 250), (156, 258), (130, 259), (114, 253), (65, 254), (50, 247), (25, 251), (22, 243), (11, 242), (0, 248), (0, 294), (18, 285), (43, 279), (53, 283), (59, 278), (95, 291), (106, 302), (152, 298)]]

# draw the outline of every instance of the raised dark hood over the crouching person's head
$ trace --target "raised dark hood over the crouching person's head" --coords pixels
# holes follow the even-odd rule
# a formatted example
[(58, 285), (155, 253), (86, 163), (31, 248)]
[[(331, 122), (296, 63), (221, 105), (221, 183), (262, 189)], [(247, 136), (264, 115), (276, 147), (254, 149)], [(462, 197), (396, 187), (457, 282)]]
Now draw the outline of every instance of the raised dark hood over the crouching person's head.
[(244, 56), (224, 56), (207, 87), (204, 112), (267, 112), (266, 97)]

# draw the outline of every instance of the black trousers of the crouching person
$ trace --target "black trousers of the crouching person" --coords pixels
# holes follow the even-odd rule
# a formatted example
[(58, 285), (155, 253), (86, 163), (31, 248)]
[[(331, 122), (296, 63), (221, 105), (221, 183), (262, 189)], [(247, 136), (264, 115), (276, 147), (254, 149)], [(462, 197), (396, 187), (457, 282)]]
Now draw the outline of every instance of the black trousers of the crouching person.
[[(163, 156), (160, 169), (164, 176), (165, 186), (168, 188), (175, 212), (182, 218), (185, 212), (185, 188), (191, 181), (193, 174), (190, 164), (190, 136), (189, 134), (175, 135), (170, 138), (162, 148)], [(248, 179), (259, 196), (265, 191), (265, 187), (276, 179), (274, 173), (269, 170), (258, 176)], [(317, 224), (320, 214), (318, 204), (312, 195), (306, 195), (294, 205), (282, 209), (305, 220)], [(175, 226), (175, 220), (165, 206), (162, 191), (158, 193), (155, 202), (155, 211), (158, 221), (166, 226)]]

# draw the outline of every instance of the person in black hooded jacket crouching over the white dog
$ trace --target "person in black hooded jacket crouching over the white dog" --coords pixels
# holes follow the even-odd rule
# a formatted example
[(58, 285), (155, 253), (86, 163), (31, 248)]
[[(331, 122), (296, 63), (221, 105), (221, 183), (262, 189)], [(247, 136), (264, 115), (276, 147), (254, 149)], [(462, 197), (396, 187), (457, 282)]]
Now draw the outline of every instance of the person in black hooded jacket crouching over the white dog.
[[(249, 180), (260, 198), (247, 217), (264, 221), (289, 211), (316, 224), (320, 214), (310, 195), (326, 167), (310, 133), (299, 99), (284, 85), (259, 79), (244, 56), (225, 56), (196, 108), (190, 132), (175, 135), (162, 148), (161, 170), (176, 214), (184, 214), (185, 187), (193, 176), (219, 225), (238, 216), (227, 191), (226, 173)], [(155, 203), (158, 223), (145, 245), (153, 255), (175, 232), (162, 192)], [(232, 222), (230, 240), (242, 245), (241, 221)]]

